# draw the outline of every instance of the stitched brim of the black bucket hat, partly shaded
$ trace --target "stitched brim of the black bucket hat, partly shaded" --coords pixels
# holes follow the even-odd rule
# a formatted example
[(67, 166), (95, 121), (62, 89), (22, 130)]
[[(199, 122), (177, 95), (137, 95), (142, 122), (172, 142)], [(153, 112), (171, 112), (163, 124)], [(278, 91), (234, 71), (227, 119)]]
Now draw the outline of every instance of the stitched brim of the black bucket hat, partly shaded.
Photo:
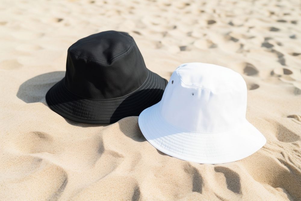
[(80, 123), (109, 124), (141, 111), (162, 98), (167, 80), (149, 71), (145, 82), (134, 92), (114, 99), (85, 99), (70, 92), (64, 79), (46, 94), (46, 102), (57, 114)]

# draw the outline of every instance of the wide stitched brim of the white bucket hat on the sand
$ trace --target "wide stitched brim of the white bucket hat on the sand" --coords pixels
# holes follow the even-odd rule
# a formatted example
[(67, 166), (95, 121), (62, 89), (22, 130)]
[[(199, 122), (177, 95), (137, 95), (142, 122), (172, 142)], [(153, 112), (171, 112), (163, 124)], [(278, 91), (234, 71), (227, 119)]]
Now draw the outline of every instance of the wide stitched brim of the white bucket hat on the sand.
[(160, 102), (145, 109), (138, 124), (159, 151), (185, 161), (218, 164), (243, 159), (265, 145), (265, 137), (247, 120), (235, 130), (196, 133), (175, 128), (160, 114)]

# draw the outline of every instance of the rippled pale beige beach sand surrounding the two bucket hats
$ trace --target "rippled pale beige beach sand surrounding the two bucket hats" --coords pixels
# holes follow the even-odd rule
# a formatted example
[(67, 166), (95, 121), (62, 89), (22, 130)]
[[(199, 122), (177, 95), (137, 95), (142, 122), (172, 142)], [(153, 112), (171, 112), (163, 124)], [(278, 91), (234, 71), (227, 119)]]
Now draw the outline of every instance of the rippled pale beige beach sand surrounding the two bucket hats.
[[(301, 200), (300, 1), (9, 1), (0, 5), (1, 200)], [(266, 145), (201, 165), (157, 151), (138, 117), (80, 124), (48, 108), (68, 47), (105, 30), (132, 35), (147, 68), (239, 72), (247, 119)], [(243, 134), (243, 133), (242, 133)]]

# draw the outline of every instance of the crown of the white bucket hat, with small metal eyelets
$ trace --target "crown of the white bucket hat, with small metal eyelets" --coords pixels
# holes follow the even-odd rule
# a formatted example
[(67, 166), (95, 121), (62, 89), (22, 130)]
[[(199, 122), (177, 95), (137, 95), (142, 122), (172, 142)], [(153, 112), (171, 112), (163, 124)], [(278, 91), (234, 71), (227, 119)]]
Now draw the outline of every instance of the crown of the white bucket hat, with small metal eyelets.
[(176, 128), (225, 132), (245, 121), (246, 83), (240, 74), (222, 66), (182, 64), (172, 74), (160, 107), (163, 118)]

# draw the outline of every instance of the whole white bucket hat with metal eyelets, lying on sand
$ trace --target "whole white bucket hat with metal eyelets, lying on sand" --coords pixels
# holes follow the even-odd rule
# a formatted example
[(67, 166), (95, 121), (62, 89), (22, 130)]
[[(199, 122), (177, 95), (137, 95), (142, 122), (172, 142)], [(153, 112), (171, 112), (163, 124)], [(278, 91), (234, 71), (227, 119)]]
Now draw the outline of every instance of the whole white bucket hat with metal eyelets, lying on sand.
[(243, 159), (265, 143), (246, 119), (247, 86), (229, 68), (204, 63), (180, 65), (157, 104), (138, 123), (151, 145), (178, 159), (226, 163)]

